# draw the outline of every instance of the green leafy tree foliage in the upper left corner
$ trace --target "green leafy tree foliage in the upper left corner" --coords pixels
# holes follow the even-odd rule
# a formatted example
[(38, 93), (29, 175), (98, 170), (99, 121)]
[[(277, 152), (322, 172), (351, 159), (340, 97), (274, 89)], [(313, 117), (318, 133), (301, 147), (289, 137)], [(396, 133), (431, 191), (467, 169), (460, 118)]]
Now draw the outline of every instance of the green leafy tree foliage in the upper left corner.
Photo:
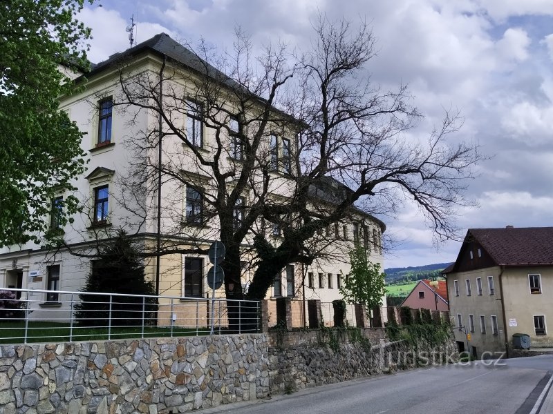
[[(72, 72), (88, 66), (90, 30), (75, 19), (84, 0), (4, 0), (0, 5), (0, 247), (48, 231), (52, 200), (71, 192), (84, 172), (82, 132), (58, 110), (72, 92)], [(64, 226), (78, 201), (64, 195), (56, 220)]]

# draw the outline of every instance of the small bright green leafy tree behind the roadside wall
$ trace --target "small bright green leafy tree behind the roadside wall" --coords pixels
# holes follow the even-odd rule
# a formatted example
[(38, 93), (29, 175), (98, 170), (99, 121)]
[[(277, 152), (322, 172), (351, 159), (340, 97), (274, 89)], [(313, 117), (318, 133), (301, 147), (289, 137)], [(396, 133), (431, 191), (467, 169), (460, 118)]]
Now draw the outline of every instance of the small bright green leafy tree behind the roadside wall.
[(371, 309), (382, 303), (384, 273), (380, 264), (373, 264), (363, 246), (355, 245), (350, 252), (351, 270), (340, 288), (340, 294), (350, 304), (365, 304)]

